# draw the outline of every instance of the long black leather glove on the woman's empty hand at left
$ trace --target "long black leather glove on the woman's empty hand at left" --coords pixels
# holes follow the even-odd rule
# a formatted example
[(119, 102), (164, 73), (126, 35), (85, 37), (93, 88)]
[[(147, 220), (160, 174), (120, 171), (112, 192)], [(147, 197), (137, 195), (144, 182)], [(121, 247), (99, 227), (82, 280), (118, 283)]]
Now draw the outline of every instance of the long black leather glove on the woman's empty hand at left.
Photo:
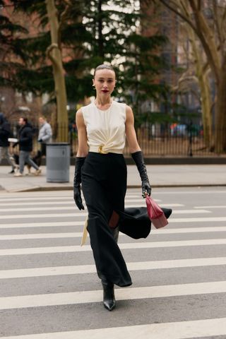
[(73, 199), (79, 210), (84, 210), (81, 198), (81, 168), (85, 162), (85, 157), (76, 157), (75, 175), (73, 178)]

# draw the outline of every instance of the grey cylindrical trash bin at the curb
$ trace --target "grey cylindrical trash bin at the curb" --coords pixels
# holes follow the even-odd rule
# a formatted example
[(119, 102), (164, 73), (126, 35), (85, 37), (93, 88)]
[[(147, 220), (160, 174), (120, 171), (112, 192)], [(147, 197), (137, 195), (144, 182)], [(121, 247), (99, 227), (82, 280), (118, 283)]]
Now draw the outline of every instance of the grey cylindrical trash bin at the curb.
[(47, 182), (69, 182), (69, 143), (47, 143), (46, 162)]

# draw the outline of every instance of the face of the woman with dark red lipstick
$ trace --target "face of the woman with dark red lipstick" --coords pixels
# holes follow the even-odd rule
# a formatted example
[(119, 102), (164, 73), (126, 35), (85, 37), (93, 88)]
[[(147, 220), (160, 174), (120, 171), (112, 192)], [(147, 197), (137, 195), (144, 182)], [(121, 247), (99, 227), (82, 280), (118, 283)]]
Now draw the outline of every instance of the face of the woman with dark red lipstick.
[(95, 73), (93, 84), (97, 91), (97, 95), (111, 95), (115, 86), (115, 73), (110, 69), (99, 69)]

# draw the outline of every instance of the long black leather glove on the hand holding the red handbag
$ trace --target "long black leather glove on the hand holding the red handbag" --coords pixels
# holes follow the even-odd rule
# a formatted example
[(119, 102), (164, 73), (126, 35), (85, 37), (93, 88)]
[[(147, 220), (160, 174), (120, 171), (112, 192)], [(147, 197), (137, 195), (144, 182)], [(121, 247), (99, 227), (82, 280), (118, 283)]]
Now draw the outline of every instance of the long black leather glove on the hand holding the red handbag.
[(149, 179), (148, 179), (147, 169), (145, 167), (145, 163), (144, 163), (144, 160), (143, 160), (143, 154), (142, 154), (141, 150), (138, 150), (135, 153), (131, 153), (131, 156), (132, 156), (134, 162), (136, 163), (136, 167), (137, 167), (138, 172), (139, 172), (140, 177), (141, 177), (142, 196), (143, 196), (143, 198), (145, 198), (146, 194), (148, 194), (148, 196), (150, 196), (151, 187), (150, 187), (150, 182), (149, 182)]

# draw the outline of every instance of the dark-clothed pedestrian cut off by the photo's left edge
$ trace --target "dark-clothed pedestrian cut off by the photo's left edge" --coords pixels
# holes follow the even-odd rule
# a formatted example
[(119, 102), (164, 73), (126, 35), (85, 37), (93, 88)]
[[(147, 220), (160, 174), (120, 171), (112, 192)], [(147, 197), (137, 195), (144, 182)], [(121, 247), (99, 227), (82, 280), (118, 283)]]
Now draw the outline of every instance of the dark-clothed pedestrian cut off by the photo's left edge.
[(15, 172), (15, 165), (11, 160), (11, 155), (8, 152), (8, 138), (11, 136), (10, 124), (4, 117), (4, 114), (0, 112), (0, 163), (2, 159), (6, 159), (8, 164), (11, 165), (12, 169), (9, 174)]

